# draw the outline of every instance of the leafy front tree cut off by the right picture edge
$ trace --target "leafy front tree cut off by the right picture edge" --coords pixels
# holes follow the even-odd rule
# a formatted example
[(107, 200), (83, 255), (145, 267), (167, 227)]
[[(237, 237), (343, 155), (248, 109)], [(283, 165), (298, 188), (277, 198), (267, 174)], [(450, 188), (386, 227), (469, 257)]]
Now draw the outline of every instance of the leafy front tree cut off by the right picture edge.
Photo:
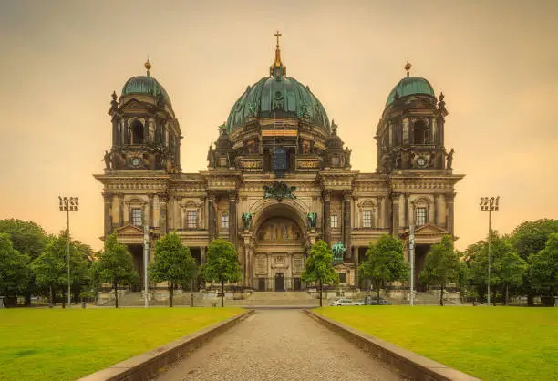
[(544, 249), (529, 256), (532, 286), (542, 293), (545, 305), (552, 305), (558, 293), (558, 233), (549, 235)]

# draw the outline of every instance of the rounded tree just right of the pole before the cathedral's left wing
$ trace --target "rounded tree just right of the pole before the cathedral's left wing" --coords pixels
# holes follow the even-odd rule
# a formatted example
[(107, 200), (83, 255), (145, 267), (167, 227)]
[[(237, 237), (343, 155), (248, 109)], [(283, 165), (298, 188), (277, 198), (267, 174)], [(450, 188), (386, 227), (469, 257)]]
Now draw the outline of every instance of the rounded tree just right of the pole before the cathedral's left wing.
[(188, 284), (196, 276), (196, 270), (190, 249), (182, 244), (177, 233), (165, 234), (155, 242), (155, 259), (150, 263), (148, 273), (152, 281), (168, 283), (171, 307), (174, 289)]

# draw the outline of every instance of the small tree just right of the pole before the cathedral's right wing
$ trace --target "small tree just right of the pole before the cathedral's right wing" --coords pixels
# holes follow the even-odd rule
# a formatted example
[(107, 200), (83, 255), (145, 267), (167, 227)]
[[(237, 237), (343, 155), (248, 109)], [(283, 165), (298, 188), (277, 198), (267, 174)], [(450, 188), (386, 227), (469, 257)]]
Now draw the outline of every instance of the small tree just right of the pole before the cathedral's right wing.
[(420, 273), (420, 282), (439, 285), (439, 304), (444, 305), (444, 288), (448, 283), (458, 281), (460, 276), (460, 255), (453, 249), (450, 235), (433, 245), (427, 254), (424, 270)]

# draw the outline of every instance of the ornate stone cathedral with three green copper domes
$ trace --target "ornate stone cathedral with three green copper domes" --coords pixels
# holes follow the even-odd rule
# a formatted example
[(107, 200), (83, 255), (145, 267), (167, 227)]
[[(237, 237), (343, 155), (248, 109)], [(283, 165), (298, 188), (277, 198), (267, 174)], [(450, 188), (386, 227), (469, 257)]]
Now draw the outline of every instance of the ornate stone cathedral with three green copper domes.
[(104, 186), (104, 235), (116, 232), (129, 247), (140, 279), (144, 236), (152, 260), (152, 243), (177, 232), (198, 263), (213, 239), (232, 242), (243, 289), (298, 291), (316, 240), (335, 248), (340, 285), (358, 288), (369, 242), (382, 234), (408, 242), (414, 226), (417, 277), (430, 246), (454, 234), (454, 187), (464, 177), (444, 146), (443, 94), (410, 76), (407, 64), (377, 123), (376, 171), (362, 173), (351, 166), (343, 129), (308, 86), (287, 77), (276, 36), (269, 73), (246, 88), (207, 143), (206, 170), (182, 173), (179, 120), (149, 61), (145, 76), (112, 94), (112, 146), (95, 175)]

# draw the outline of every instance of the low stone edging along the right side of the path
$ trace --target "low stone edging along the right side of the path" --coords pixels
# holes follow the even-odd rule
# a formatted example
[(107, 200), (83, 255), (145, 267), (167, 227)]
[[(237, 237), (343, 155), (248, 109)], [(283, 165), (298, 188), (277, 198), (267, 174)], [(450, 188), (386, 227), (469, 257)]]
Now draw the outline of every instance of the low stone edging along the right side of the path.
[(367, 335), (346, 324), (336, 322), (322, 314), (305, 310), (308, 316), (317, 322), (324, 324), (327, 328), (341, 335), (348, 341), (358, 346), (380, 361), (393, 366), (398, 371), (413, 380), (440, 380), (440, 381), (479, 381), (479, 378), (467, 375), (449, 366), (444, 366), (434, 360), (422, 355), (417, 355), (407, 349), (403, 349), (387, 341)]

